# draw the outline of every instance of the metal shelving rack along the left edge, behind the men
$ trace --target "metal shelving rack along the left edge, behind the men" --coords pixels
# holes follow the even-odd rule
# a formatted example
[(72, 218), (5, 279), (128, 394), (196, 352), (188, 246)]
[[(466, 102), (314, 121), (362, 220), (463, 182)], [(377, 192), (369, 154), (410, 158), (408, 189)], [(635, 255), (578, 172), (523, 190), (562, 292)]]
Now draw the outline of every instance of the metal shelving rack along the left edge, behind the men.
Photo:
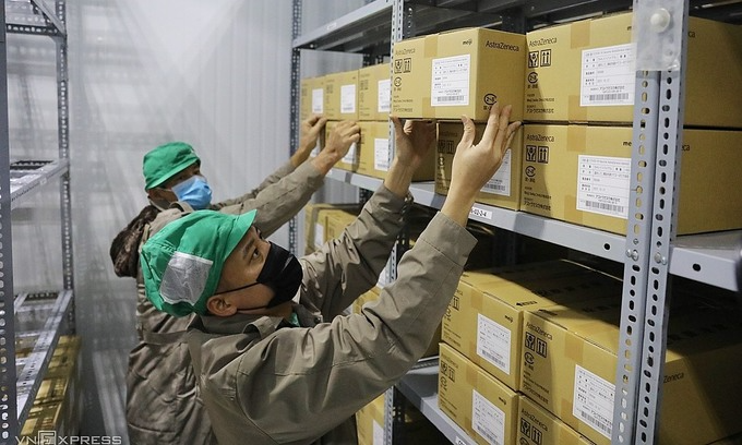
[[(0, 442), (14, 443), (28, 417), (60, 335), (74, 329), (70, 204), (65, 2), (5, 0), (0, 49)], [(59, 157), (11, 161), (8, 121), (8, 33), (51, 37), (57, 56)], [(14, 294), (11, 211), (49, 181), (59, 180), (61, 290)], [(27, 354), (16, 358), (25, 349)]]

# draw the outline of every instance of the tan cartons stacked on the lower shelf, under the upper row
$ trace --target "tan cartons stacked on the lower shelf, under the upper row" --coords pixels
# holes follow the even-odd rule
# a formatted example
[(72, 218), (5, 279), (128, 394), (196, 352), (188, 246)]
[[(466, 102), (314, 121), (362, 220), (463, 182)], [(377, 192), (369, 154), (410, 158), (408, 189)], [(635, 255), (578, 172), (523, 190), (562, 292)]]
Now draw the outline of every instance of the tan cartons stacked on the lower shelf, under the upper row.
[[(443, 318), (441, 410), (480, 444), (610, 444), (621, 291), (569, 261), (464, 273)], [(739, 433), (740, 314), (673, 299), (660, 443)]]

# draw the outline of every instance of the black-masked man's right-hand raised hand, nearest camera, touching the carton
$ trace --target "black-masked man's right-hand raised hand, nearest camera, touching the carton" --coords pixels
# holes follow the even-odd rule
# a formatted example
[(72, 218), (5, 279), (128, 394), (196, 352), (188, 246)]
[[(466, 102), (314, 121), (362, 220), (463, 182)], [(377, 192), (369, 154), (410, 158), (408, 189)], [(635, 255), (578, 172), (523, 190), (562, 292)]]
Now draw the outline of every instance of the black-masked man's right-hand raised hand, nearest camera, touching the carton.
[(498, 171), (505, 152), (513, 142), (513, 135), (520, 122), (510, 121), (512, 107), (505, 106), (500, 111), (499, 104), (490, 109), (487, 128), (478, 144), (474, 143), (475, 124), (466, 116), (462, 117), (464, 135), (456, 147), (451, 172), (448, 195), (441, 208), (452, 219), (466, 225), (469, 211), (477, 193)]

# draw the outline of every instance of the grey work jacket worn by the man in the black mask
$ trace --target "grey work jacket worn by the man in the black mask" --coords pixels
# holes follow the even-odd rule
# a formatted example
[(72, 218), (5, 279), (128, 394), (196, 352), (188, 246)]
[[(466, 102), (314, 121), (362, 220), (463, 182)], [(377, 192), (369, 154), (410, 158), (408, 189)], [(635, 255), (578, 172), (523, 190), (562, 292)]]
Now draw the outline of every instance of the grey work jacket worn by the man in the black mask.
[(246, 314), (194, 320), (189, 349), (220, 445), (357, 443), (354, 413), (423, 354), (476, 244), (438, 214), (378, 302), (339, 315), (376, 281), (402, 207), (382, 187), (338, 240), (301, 258), (299, 327)]

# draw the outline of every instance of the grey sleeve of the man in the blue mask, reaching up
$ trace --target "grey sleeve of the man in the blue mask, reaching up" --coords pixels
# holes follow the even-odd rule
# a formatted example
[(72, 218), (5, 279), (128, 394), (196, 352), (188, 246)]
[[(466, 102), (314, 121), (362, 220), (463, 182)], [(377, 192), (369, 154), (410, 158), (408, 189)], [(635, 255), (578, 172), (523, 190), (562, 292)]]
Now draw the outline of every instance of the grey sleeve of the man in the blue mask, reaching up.
[[(279, 171), (280, 169), (268, 179), (277, 176)], [(263, 184), (268, 182), (268, 179)], [(255, 189), (258, 192), (253, 191), (239, 199), (215, 204), (212, 208), (232, 215), (256, 208), (254, 224), (268, 237), (299, 213), (323, 183), (324, 175), (311, 163), (303, 163), (277, 182), (264, 189)]]

